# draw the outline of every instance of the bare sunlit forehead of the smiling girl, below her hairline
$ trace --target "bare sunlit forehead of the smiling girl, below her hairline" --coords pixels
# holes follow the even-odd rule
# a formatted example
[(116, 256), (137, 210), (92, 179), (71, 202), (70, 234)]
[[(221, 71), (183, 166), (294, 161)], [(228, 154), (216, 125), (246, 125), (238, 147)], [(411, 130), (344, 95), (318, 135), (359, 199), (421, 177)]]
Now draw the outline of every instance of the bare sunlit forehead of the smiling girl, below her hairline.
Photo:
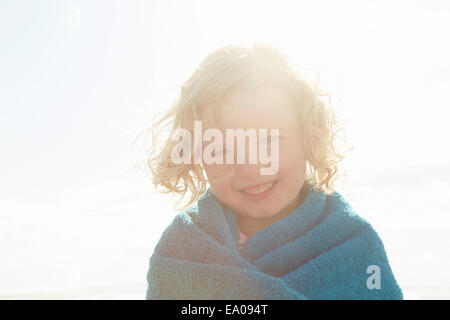
[(290, 97), (276, 88), (236, 89), (206, 109), (202, 120), (204, 128), (295, 129), (299, 121), (294, 108)]

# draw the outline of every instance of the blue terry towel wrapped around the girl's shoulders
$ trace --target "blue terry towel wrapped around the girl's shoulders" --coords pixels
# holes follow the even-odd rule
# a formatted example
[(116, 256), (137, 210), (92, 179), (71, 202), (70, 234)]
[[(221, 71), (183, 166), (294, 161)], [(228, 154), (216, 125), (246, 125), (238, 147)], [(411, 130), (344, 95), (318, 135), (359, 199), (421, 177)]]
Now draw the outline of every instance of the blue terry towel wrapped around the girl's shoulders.
[(382, 241), (338, 192), (304, 202), (238, 250), (236, 214), (210, 188), (150, 258), (147, 299), (403, 299)]

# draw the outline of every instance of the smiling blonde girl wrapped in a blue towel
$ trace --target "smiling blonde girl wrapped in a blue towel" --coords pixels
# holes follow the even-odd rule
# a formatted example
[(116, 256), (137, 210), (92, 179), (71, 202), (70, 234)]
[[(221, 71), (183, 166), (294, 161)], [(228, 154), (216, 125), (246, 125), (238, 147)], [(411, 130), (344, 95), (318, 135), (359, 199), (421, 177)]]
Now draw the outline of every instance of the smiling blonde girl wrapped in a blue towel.
[[(214, 133), (194, 143), (200, 162), (177, 134), (198, 135), (195, 121)], [(251, 143), (219, 134), (250, 141), (261, 129), (270, 174), (267, 161), (236, 160), (254, 156)], [(278, 49), (214, 51), (151, 130), (153, 183), (190, 198), (150, 258), (147, 299), (403, 298), (377, 233), (334, 189), (343, 156), (332, 109)]]

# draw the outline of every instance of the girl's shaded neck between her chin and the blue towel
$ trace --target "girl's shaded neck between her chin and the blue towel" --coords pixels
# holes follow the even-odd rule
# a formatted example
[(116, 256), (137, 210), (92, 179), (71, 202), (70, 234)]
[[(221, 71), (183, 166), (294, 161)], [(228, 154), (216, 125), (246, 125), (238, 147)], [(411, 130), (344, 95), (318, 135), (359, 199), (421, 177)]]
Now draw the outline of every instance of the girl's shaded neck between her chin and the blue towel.
[(298, 208), (305, 201), (307, 193), (308, 188), (305, 182), (299, 195), (294, 199), (294, 201), (292, 201), (288, 206), (283, 208), (278, 214), (271, 216), (269, 218), (257, 219), (237, 214), (236, 223), (238, 225), (239, 230), (243, 234), (245, 234), (248, 238), (250, 238), (258, 231), (290, 215), (296, 208)]

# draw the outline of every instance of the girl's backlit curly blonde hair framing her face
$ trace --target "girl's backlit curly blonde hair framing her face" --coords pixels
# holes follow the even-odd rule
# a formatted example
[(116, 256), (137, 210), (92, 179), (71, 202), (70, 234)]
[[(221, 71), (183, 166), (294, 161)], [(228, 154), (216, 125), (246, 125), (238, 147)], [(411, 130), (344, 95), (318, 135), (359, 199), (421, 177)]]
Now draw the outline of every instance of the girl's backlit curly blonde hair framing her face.
[[(201, 120), (203, 110), (217, 105), (228, 92), (234, 88), (262, 85), (282, 90), (298, 107), (296, 110), (304, 132), (308, 183), (325, 193), (335, 191), (335, 182), (342, 176), (338, 175), (338, 165), (344, 155), (336, 144), (337, 133), (342, 128), (330, 106), (329, 92), (319, 89), (317, 81), (307, 80), (273, 45), (261, 42), (252, 46), (232, 44), (209, 54), (182, 84), (181, 94), (171, 108), (156, 115), (152, 126), (143, 132), (146, 137), (151, 136), (144, 162), (156, 190), (180, 195), (176, 205), (191, 194), (187, 203), (178, 209), (195, 203), (206, 191), (208, 181), (201, 165), (193, 164), (193, 161), (179, 165), (172, 162), (171, 152), (178, 143), (172, 140), (176, 129), (184, 128), (192, 133), (194, 121)], [(158, 190), (158, 187), (162, 189)]]

